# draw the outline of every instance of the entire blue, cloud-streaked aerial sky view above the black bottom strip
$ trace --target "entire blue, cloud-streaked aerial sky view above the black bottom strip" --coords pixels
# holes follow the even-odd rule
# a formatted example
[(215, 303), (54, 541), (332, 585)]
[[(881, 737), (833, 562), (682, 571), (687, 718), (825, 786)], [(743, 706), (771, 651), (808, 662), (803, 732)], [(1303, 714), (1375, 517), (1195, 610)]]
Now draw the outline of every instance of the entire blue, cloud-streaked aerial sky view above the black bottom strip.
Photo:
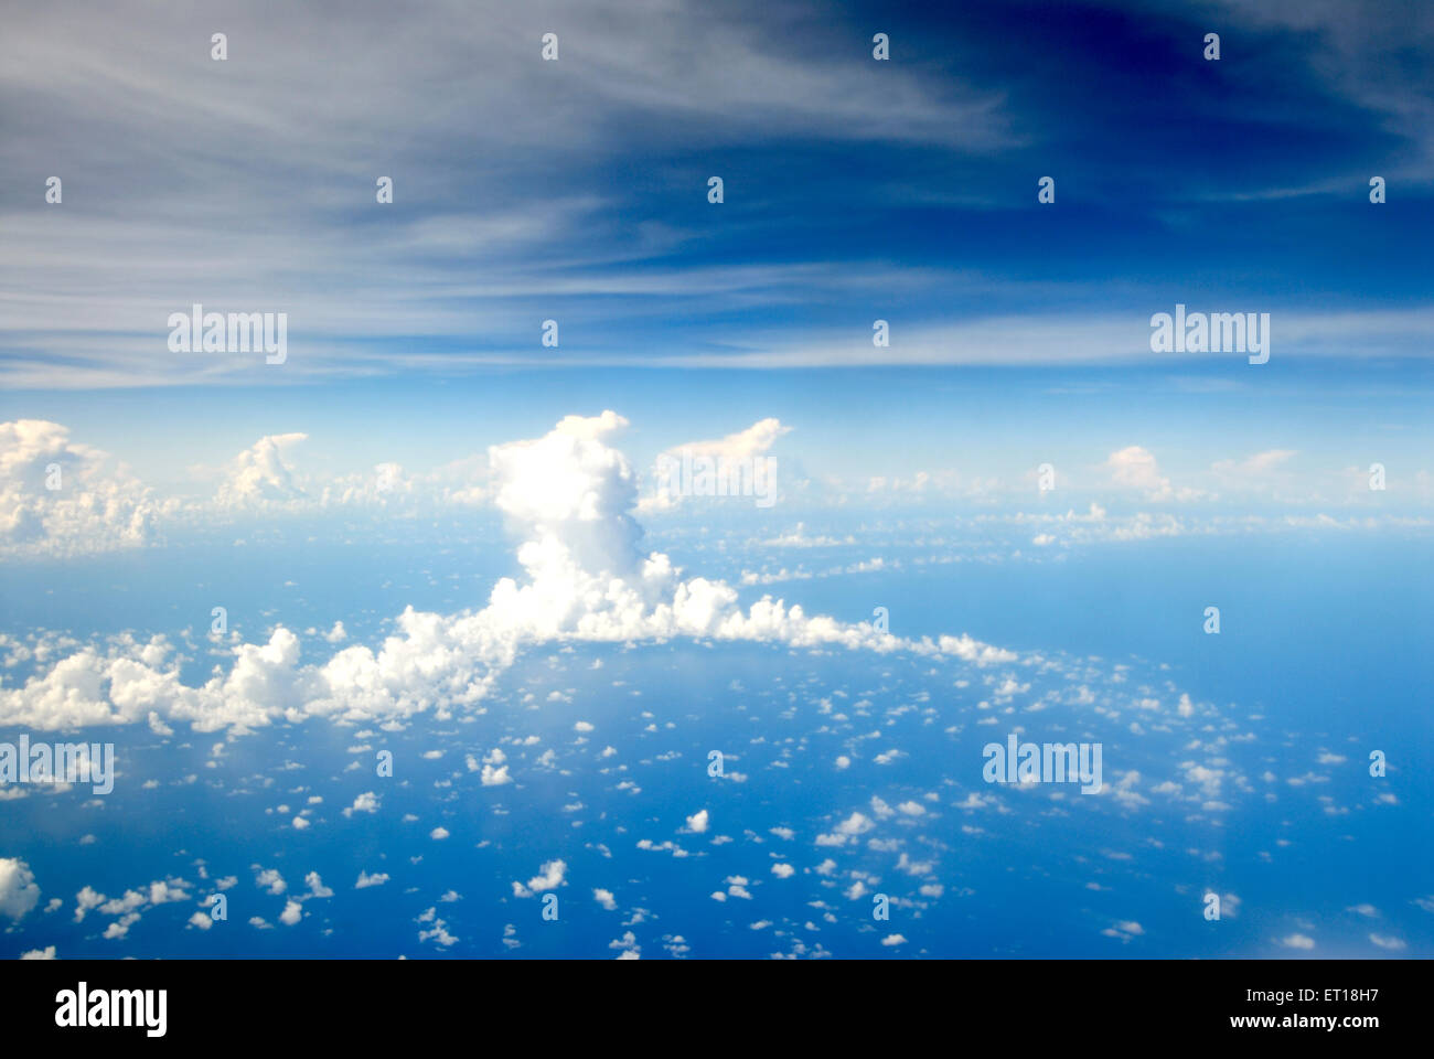
[[(118, 778), (0, 768), (0, 954), (1428, 954), (1431, 53), (1354, 0), (7, 14), (0, 753)], [(1012, 732), (1101, 791), (988, 782)]]

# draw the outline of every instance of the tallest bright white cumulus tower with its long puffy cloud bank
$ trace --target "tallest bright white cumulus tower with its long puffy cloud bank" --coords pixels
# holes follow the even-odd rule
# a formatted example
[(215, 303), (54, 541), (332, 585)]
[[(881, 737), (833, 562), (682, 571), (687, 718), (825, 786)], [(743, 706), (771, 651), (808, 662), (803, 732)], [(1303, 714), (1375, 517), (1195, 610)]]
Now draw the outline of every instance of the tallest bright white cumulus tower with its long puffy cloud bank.
[(321, 664), (300, 660), (298, 637), (278, 627), (265, 644), (235, 649), (228, 673), (199, 686), (179, 679), (162, 637), (90, 646), (0, 689), (0, 725), (39, 729), (149, 720), (198, 730), (245, 730), (278, 717), (403, 717), (482, 700), (523, 646), (554, 640), (635, 641), (707, 637), (906, 650), (978, 664), (1014, 654), (967, 636), (903, 640), (870, 624), (807, 616), (763, 597), (743, 610), (737, 591), (684, 578), (667, 555), (644, 554), (632, 468), (612, 441), (627, 426), (614, 412), (568, 416), (536, 441), (489, 449), (496, 502), (521, 538), (521, 580), (502, 578), (482, 610), (397, 617), (381, 646), (354, 646)]

